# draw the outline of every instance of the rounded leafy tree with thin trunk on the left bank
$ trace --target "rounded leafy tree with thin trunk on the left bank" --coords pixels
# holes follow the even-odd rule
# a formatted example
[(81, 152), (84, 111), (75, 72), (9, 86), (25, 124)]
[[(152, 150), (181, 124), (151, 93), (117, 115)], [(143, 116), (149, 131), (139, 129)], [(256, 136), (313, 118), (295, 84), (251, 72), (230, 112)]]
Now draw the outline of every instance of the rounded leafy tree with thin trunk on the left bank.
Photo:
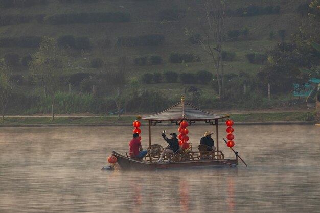
[(50, 37), (43, 38), (39, 50), (32, 55), (30, 74), (39, 87), (42, 87), (52, 99), (52, 120), (54, 120), (55, 95), (62, 85), (66, 83), (68, 69), (66, 68), (67, 56), (60, 49), (57, 42)]

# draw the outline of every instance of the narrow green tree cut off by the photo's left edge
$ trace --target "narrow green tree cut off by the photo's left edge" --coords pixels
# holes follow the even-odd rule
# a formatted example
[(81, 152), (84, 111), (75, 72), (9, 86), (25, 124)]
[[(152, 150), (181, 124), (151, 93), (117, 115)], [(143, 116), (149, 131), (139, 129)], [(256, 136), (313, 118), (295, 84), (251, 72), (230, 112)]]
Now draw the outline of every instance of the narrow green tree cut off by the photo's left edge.
[(12, 81), (10, 79), (10, 67), (4, 62), (0, 61), (0, 102), (2, 109), (2, 119), (5, 119), (5, 110), (8, 103), (8, 97), (12, 89)]

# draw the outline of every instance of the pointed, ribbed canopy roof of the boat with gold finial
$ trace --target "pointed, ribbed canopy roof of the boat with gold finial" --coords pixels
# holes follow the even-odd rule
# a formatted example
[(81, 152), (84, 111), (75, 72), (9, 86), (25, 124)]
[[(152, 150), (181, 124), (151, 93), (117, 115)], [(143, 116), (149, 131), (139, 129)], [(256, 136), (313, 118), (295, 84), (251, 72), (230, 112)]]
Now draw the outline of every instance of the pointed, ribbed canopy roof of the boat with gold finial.
[(210, 121), (218, 120), (229, 117), (227, 115), (215, 115), (209, 112), (205, 112), (192, 104), (185, 102), (182, 97), (181, 101), (169, 109), (149, 116), (143, 116), (139, 119), (152, 120), (152, 121)]

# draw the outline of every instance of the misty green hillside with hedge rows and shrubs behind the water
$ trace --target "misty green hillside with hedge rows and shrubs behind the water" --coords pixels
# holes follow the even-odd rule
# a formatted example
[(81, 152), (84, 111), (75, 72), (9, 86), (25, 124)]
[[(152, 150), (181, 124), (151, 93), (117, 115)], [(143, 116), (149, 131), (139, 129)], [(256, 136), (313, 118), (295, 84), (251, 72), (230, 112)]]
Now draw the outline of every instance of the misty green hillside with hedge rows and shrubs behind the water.
[[(0, 1), (0, 58), (10, 65), (13, 82), (6, 112), (156, 112), (182, 94), (202, 109), (298, 102), (292, 84), (307, 80), (299, 67), (313, 70), (319, 63), (310, 48), (311, 41), (319, 43), (320, 27), (310, 20), (317, 17), (317, 1), (310, 0), (312, 8), (303, 0), (216, 3)], [(302, 18), (309, 26), (295, 21)], [(30, 65), (47, 36), (61, 51), (56, 55), (67, 54), (67, 64), (55, 76), (66, 80), (59, 93), (45, 96), (49, 88), (35, 87), (39, 81)]]

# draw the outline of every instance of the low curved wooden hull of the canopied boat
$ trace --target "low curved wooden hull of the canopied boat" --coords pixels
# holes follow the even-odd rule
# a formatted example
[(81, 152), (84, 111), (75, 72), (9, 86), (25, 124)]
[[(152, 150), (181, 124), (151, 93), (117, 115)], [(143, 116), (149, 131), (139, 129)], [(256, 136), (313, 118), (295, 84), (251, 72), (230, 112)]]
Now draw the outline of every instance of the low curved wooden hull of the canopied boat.
[(117, 157), (115, 164), (116, 170), (161, 170), (161, 169), (176, 169), (176, 168), (201, 168), (201, 167), (236, 167), (237, 159), (220, 159), (220, 160), (199, 160), (186, 162), (170, 162), (170, 163), (155, 163), (148, 161), (139, 161), (127, 158), (115, 151), (112, 155)]

